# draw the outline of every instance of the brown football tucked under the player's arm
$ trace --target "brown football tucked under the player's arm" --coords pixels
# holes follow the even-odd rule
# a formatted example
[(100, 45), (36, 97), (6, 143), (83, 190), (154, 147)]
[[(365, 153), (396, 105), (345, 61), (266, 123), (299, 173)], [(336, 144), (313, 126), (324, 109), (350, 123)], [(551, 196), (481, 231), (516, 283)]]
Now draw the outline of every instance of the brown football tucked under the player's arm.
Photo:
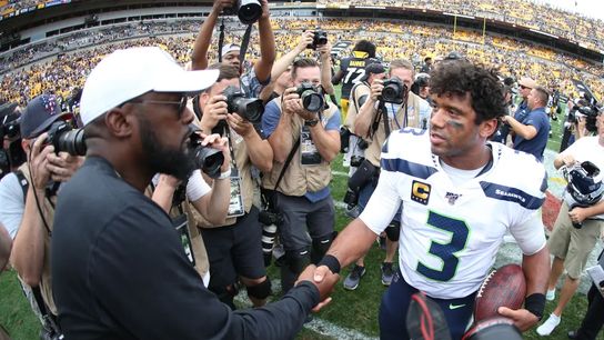
[(506, 264), (493, 270), (479, 290), (474, 301), (474, 322), (499, 317), (497, 308), (519, 309), (526, 296), (524, 272), (519, 264)]

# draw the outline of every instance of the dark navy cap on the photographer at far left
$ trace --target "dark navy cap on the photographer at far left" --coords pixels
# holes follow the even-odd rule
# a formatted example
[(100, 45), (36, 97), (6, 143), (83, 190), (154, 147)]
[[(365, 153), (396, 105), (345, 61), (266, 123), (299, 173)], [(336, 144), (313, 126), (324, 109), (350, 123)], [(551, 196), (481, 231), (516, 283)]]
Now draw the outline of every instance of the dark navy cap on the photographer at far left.
[(71, 113), (61, 113), (61, 107), (54, 94), (40, 94), (28, 102), (21, 114), (21, 137), (36, 138), (59, 119), (71, 117)]

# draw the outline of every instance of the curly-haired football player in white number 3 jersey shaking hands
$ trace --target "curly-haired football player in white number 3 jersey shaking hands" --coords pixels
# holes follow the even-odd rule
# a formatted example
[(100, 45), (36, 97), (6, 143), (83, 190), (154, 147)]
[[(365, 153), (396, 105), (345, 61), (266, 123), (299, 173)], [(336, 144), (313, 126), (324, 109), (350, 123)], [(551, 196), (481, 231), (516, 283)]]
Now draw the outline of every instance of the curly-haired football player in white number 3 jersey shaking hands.
[(366, 209), (335, 239), (314, 279), (363, 254), (401, 209), (400, 272), (382, 299), (380, 337), (409, 339), (403, 320), (421, 290), (443, 309), (452, 339), (461, 339), (509, 230), (523, 251), (526, 298), (523, 309), (499, 312), (527, 330), (543, 314), (550, 272), (537, 213), (545, 169), (530, 154), (487, 141), (505, 113), (495, 72), (459, 59), (439, 63), (431, 76), (430, 129), (390, 134)]

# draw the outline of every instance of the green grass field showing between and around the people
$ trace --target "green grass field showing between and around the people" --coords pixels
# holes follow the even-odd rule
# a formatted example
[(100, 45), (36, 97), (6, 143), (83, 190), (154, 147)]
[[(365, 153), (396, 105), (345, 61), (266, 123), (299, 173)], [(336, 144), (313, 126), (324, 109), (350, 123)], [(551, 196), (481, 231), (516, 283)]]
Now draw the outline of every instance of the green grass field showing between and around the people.
[[(339, 94), (339, 93), (338, 93)], [(561, 120), (552, 123), (553, 136), (547, 148), (557, 151), (560, 148)], [(342, 158), (333, 162), (332, 169), (338, 172), (348, 172), (342, 167)], [(334, 176), (331, 183), (334, 200), (342, 201), (346, 187), (346, 177)], [(342, 230), (350, 219), (342, 209), (338, 209), (336, 229)], [(324, 308), (315, 319), (321, 319), (343, 329), (354, 330), (361, 333), (361, 339), (378, 337), (378, 309), (381, 296), (385, 290), (380, 280), (379, 263), (384, 257), (384, 251), (374, 246), (365, 259), (366, 273), (360, 287), (355, 291), (345, 291), (341, 282), (338, 284), (333, 301)], [(269, 274), (273, 282), (279, 282), (279, 270), (274, 266), (269, 268)], [(348, 274), (348, 269), (342, 270), (342, 277)], [(278, 296), (279, 292), (275, 292)], [(241, 304), (248, 307), (249, 304)], [(554, 302), (546, 306), (546, 314), (554, 308)], [(564, 311), (562, 323), (548, 339), (566, 339), (566, 331), (576, 329), (581, 323), (586, 309), (586, 298), (576, 294)], [(30, 311), (21, 290), (17, 283), (16, 273), (9, 271), (0, 277), (0, 324), (4, 326), (13, 339), (37, 339), (39, 323)], [(524, 334), (525, 339), (541, 339), (534, 330)], [(313, 330), (303, 330), (298, 339), (344, 339), (344, 336), (334, 334), (326, 337)], [(604, 339), (602, 333), (598, 339)]]

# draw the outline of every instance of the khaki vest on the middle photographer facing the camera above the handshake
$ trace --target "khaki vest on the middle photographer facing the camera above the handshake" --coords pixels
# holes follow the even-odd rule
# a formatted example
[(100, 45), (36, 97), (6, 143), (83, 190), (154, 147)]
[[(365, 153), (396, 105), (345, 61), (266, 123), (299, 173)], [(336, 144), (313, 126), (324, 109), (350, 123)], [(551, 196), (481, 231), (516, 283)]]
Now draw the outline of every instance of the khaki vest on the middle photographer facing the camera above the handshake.
[[(274, 102), (279, 107), (281, 112), (281, 97), (275, 99)], [(328, 120), (338, 112), (338, 107), (333, 103), (329, 103), (329, 109), (324, 110), (321, 116), (321, 124), (325, 126)], [(300, 116), (294, 114), (292, 117), (292, 146), (300, 138), (300, 130), (302, 129), (304, 121)], [(288, 154), (291, 150), (288, 150)], [(300, 156), (300, 147), (295, 151), (292, 161), (285, 170), (283, 179), (279, 183), (278, 191), (286, 196), (304, 196), (306, 192), (315, 192), (325, 187), (331, 181), (331, 168), (330, 163), (325, 160), (321, 160), (320, 164), (316, 166), (302, 166)], [(266, 189), (273, 189), (279, 174), (281, 174), (281, 169), (283, 169), (284, 163), (273, 162), (273, 169), (271, 173), (266, 173), (262, 179), (262, 187)]]

